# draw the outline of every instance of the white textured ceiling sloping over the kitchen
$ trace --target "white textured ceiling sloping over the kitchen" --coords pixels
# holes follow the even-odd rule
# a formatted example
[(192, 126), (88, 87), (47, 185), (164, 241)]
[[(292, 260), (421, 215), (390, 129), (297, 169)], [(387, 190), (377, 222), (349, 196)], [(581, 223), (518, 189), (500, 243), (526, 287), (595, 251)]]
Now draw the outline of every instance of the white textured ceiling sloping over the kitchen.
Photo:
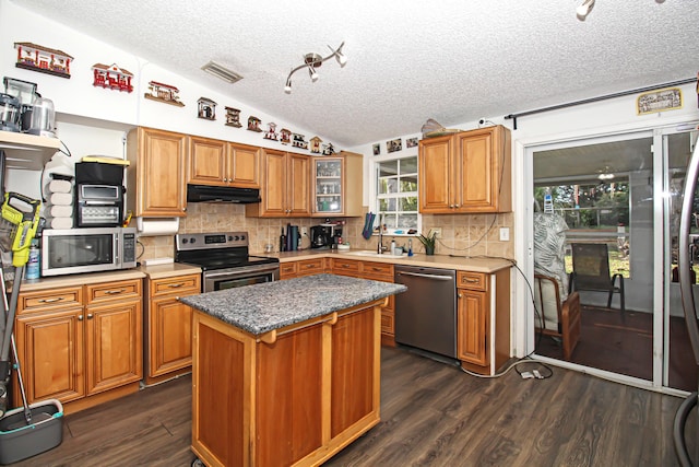
[[(692, 78), (696, 0), (12, 0), (244, 104), (358, 145)], [(289, 70), (345, 42), (311, 83)], [(242, 74), (201, 71), (215, 60)]]

